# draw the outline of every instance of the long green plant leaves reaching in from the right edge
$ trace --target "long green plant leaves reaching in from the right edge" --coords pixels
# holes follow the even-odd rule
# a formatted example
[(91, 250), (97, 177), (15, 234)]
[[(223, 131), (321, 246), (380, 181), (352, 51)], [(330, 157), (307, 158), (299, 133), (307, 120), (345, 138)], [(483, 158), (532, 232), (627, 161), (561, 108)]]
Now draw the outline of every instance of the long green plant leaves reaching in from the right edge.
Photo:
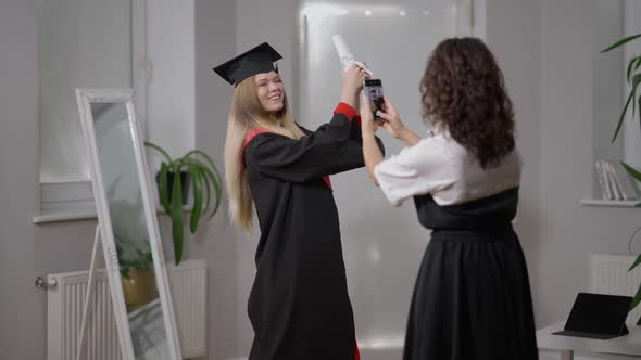
[[(623, 39), (616, 41), (615, 43), (613, 43), (612, 46), (602, 50), (601, 52), (602, 53), (608, 52), (613, 49), (619, 48), (619, 47), (624, 46), (625, 43), (632, 41), (632, 40), (640, 38), (640, 37), (641, 37), (641, 34), (628, 36), (626, 38), (623, 38)], [(627, 72), (626, 72), (626, 79), (627, 79), (628, 83), (631, 86), (630, 94), (628, 95), (628, 99), (626, 100), (626, 104), (624, 105), (624, 108), (623, 108), (621, 114), (619, 116), (616, 129), (614, 131), (614, 136), (612, 137), (612, 142), (614, 142), (619, 134), (625, 116), (628, 112), (628, 108), (630, 107), (630, 103), (632, 103), (632, 118), (634, 117), (634, 113), (637, 111), (637, 108), (636, 108), (637, 104), (639, 105), (639, 124), (641, 125), (641, 93), (637, 93), (637, 89), (638, 89), (639, 85), (641, 83), (641, 68), (640, 67), (641, 67), (641, 55), (632, 56), (632, 59), (630, 59), (630, 61), (628, 62)], [(626, 171), (628, 171), (628, 173), (630, 173), (637, 181), (641, 181), (641, 172), (639, 170), (629, 166), (625, 162), (621, 162), (621, 165), (624, 166)], [(641, 207), (641, 203), (638, 203), (634, 206)], [(641, 263), (641, 254), (639, 254), (637, 256), (636, 260), (630, 266), (628, 271), (632, 271), (640, 263)], [(633, 310), (639, 305), (639, 303), (641, 303), (641, 284), (639, 285), (639, 290), (637, 291), (637, 294), (632, 298), (632, 305), (630, 306), (630, 311)], [(637, 323), (637, 324), (641, 324), (641, 319), (639, 319), (639, 323)]]

